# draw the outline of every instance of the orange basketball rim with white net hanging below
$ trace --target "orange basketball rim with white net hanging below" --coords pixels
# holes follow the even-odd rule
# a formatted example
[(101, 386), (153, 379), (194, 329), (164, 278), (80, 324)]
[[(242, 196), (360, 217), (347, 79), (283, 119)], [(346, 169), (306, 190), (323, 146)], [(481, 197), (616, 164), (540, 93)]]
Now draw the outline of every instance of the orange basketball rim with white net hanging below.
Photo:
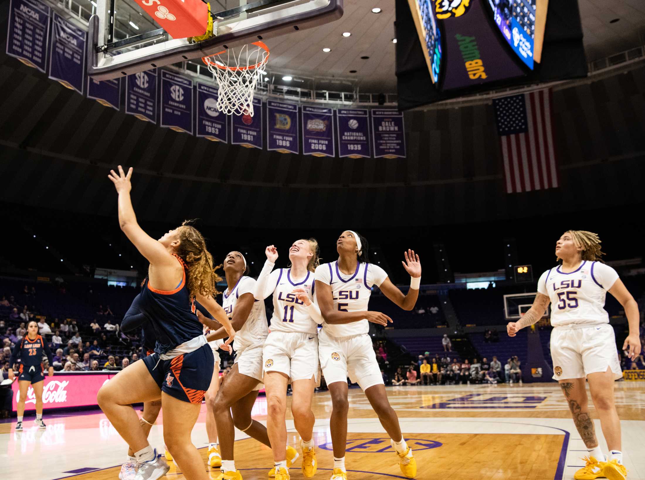
[(237, 55), (232, 48), (202, 57), (208, 70), (217, 78), (217, 110), (226, 115), (253, 117), (253, 90), (269, 59), (269, 48), (264, 42), (253, 42), (240, 48)]

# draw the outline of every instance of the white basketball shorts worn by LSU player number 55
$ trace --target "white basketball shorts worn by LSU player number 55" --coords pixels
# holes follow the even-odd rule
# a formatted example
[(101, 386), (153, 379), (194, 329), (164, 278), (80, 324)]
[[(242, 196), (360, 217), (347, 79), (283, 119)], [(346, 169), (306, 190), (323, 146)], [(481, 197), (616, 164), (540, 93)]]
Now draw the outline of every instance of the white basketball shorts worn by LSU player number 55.
[(606, 372), (622, 377), (616, 349), (616, 336), (609, 323), (588, 327), (555, 327), (551, 331), (553, 379), (586, 378), (590, 373)]

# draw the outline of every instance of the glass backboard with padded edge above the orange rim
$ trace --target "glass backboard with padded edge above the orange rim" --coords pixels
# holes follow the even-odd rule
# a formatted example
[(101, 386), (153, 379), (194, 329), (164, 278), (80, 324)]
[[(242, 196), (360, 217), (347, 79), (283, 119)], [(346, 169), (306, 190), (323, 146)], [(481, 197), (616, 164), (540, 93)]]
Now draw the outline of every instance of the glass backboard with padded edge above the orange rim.
[[(154, 1), (166, 11), (166, 0)], [(174, 39), (135, 0), (95, 0), (88, 35), (88, 75), (108, 80), (330, 23), (343, 0), (212, 0), (212, 32)], [(160, 17), (161, 18), (161, 17)], [(161, 21), (161, 20), (160, 20)], [(204, 26), (206, 30), (206, 26)]]

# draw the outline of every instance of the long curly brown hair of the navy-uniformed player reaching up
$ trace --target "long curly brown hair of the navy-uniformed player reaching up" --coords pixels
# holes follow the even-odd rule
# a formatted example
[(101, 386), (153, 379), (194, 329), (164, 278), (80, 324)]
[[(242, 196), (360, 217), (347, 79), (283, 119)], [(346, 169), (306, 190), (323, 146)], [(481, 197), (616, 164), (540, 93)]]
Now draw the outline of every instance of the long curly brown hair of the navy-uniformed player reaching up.
[(194, 298), (202, 294), (214, 297), (219, 294), (216, 285), (222, 278), (217, 274), (217, 269), (221, 265), (213, 267), (213, 256), (206, 249), (206, 240), (199, 230), (190, 225), (191, 222), (184, 220), (177, 229), (180, 243), (176, 253), (187, 267), (186, 284), (190, 296)]

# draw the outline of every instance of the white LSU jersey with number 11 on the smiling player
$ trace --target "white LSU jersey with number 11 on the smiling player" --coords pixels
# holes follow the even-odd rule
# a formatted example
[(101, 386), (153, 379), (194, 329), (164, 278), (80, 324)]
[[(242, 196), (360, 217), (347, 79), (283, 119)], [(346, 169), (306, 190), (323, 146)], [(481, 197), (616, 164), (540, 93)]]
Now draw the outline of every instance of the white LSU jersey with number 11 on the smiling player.
[(271, 317), (271, 331), (318, 333), (318, 323), (312, 318), (310, 310), (301, 302), (293, 289), (306, 290), (309, 299), (313, 300), (313, 273), (301, 278), (292, 278), (291, 269), (277, 269), (272, 271), (275, 264), (268, 260), (257, 278), (255, 298), (264, 300), (273, 294), (273, 316)]

